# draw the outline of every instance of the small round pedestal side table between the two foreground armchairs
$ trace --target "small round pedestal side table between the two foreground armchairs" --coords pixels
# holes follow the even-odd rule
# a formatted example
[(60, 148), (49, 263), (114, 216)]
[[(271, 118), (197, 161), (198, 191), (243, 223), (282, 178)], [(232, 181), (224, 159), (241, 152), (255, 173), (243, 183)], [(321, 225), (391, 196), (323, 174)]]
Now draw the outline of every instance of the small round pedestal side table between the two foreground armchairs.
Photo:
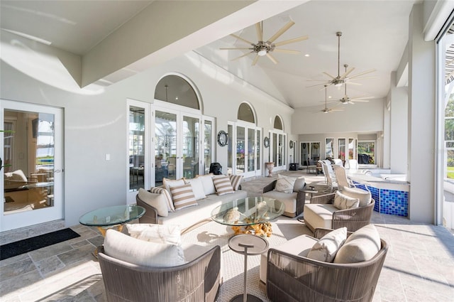
[(253, 234), (239, 234), (228, 239), (228, 247), (233, 252), (244, 254), (244, 290), (234, 296), (230, 302), (262, 302), (257, 296), (248, 294), (248, 255), (259, 255), (265, 252), (269, 244), (265, 238)]

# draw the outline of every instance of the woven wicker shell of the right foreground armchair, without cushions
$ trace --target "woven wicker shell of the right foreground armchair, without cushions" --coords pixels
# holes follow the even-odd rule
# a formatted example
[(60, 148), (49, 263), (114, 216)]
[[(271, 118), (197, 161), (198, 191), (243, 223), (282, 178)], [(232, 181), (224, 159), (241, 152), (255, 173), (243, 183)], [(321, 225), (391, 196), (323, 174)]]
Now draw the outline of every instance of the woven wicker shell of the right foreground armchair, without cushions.
[[(316, 238), (323, 234), (326, 232), (316, 231)], [(381, 243), (375, 257), (352, 264), (317, 261), (270, 249), (267, 296), (270, 301), (279, 302), (372, 301), (388, 250), (387, 243)]]

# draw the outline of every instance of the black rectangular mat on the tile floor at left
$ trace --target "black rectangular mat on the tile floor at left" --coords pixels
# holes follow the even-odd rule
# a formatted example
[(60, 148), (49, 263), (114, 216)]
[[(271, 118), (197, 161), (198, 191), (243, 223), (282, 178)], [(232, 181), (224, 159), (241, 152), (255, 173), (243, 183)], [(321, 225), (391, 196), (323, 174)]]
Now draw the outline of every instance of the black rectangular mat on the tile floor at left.
[(8, 259), (20, 254), (34, 251), (42, 247), (64, 242), (66, 240), (80, 237), (77, 232), (71, 229), (63, 229), (36, 237), (23, 239), (9, 244), (0, 245), (0, 260)]

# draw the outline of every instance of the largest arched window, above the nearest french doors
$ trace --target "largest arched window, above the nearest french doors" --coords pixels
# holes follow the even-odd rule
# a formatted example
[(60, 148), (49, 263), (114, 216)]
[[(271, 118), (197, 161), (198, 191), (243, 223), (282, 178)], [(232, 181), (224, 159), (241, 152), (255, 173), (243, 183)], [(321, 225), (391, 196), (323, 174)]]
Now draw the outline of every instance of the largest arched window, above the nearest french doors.
[(177, 75), (166, 75), (157, 83), (155, 99), (184, 107), (200, 109), (194, 88)]

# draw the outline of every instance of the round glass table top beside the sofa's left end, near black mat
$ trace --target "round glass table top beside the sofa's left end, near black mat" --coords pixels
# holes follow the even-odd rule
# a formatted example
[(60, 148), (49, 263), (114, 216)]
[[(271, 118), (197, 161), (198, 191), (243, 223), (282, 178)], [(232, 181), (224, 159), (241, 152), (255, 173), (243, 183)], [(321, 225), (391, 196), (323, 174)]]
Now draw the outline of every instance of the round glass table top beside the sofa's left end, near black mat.
[(145, 208), (138, 205), (114, 205), (87, 212), (79, 218), (79, 222), (81, 225), (107, 227), (130, 222), (142, 217), (143, 214), (145, 214)]

